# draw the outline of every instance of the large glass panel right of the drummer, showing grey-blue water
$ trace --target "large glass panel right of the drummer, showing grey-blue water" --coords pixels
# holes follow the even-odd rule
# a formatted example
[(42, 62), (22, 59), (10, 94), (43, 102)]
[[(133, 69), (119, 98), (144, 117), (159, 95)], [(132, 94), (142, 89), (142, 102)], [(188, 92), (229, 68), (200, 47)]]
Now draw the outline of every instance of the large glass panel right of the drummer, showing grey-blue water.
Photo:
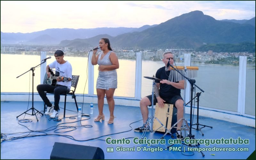
[[(196, 85), (204, 90), (200, 96), (200, 106), (237, 112), (238, 66), (195, 64)], [(196, 88), (196, 92), (200, 92)]]

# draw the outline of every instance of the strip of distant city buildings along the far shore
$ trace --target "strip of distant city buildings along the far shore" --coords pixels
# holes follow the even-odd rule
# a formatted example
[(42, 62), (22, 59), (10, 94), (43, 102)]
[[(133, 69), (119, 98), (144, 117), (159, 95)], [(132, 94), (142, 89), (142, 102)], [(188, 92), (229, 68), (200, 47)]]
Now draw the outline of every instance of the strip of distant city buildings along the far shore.
[[(1, 46), (1, 53), (5, 54), (31, 54), (40, 55), (41, 51), (46, 51), (47, 54), (53, 55), (57, 49), (63, 50), (67, 53), (66, 56), (84, 57), (88, 56), (92, 47), (67, 47), (67, 46), (22, 46), (22, 45), (9, 45)], [(191, 54), (191, 61), (204, 63), (206, 61), (223, 61), (228, 59), (229, 61), (239, 58), (239, 56), (247, 56), (247, 61), (250, 64), (255, 64), (255, 53), (248, 52), (214, 52), (209, 50), (208, 52), (196, 52), (192, 49), (137, 49), (137, 48), (112, 48), (116, 52), (119, 59), (136, 60), (136, 53), (141, 54), (142, 60), (162, 60), (163, 53), (171, 51), (175, 55), (175, 61), (184, 61), (184, 54)], [(100, 52), (100, 50), (98, 51)], [(214, 62), (213, 62), (214, 61)], [(236, 60), (237, 61), (237, 60)]]

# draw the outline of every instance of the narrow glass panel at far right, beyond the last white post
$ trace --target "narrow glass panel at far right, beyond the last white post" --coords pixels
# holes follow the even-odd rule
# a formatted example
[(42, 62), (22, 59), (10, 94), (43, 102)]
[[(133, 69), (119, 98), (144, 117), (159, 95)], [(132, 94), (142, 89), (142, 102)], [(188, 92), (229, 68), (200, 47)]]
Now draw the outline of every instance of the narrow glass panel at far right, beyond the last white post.
[(245, 114), (255, 116), (255, 64), (246, 67), (245, 88)]

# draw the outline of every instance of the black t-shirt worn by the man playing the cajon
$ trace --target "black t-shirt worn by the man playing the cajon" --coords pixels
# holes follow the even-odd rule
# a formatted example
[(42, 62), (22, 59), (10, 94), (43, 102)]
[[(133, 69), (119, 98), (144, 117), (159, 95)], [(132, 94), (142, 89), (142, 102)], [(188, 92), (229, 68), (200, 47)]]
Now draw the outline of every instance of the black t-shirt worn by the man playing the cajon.
[[(172, 70), (172, 72), (173, 71), (174, 70)], [(165, 71), (165, 67), (159, 68), (156, 71), (156, 78), (168, 80), (170, 72), (171, 71)], [(172, 78), (172, 82), (173, 82), (174, 76), (171, 78)], [(155, 80), (155, 82), (160, 83), (160, 81), (157, 81), (157, 80)], [(179, 82), (176, 82), (176, 83), (179, 83)], [(180, 89), (177, 89), (169, 84), (160, 84), (159, 95), (161, 98), (172, 98), (173, 96), (180, 95)]]

